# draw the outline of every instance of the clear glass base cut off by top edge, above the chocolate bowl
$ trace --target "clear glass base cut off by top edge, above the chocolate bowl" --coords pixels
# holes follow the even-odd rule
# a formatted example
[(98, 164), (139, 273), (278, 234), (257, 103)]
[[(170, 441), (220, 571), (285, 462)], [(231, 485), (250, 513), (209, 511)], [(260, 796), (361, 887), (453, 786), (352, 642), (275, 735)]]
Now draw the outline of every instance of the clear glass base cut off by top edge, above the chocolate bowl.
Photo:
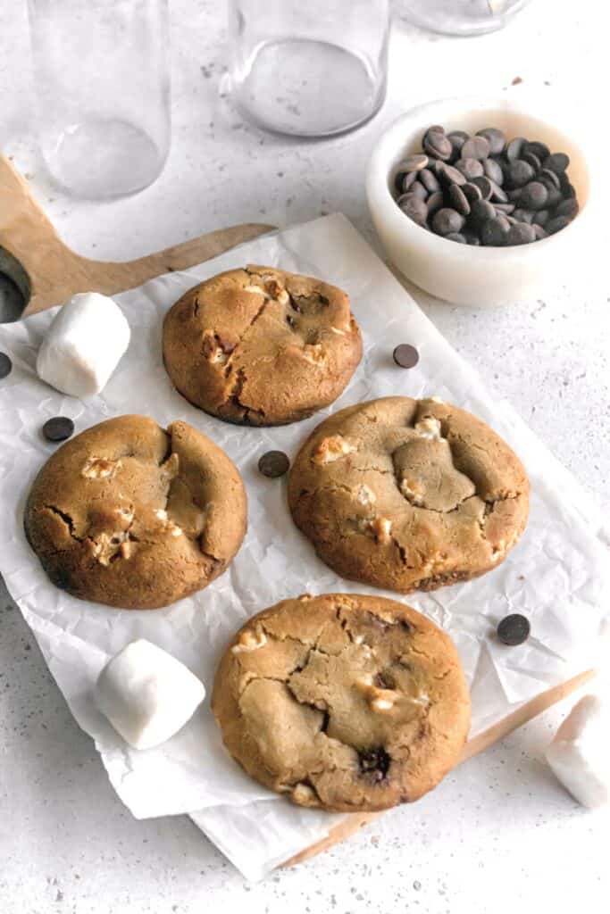
[(530, 0), (401, 0), (414, 25), (442, 35), (484, 35), (507, 25)]

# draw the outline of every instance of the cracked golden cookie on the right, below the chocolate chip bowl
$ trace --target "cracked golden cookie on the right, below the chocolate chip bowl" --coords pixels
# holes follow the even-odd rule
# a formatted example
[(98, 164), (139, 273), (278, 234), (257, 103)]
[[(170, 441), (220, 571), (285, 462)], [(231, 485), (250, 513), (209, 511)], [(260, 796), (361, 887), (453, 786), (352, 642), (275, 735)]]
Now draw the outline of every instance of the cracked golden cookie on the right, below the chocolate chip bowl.
[(495, 568), (525, 528), (529, 492), (519, 459), (484, 422), (407, 397), (322, 422), (288, 484), (294, 521), (327, 565), (403, 593)]

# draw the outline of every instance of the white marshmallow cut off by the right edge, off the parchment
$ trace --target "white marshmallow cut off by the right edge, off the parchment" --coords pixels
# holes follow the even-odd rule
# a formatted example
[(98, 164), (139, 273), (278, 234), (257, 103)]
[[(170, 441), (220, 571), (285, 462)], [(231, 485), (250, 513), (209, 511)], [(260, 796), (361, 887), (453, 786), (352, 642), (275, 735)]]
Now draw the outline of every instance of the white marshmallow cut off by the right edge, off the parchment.
[(587, 695), (557, 731), (546, 758), (557, 778), (583, 806), (610, 800), (610, 709)]

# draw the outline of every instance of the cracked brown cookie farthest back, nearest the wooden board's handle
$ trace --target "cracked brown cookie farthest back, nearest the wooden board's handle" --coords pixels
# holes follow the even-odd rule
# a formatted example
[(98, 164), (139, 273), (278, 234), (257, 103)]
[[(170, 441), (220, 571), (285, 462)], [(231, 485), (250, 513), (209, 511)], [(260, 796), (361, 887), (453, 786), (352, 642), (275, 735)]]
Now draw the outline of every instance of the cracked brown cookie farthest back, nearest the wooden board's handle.
[(346, 292), (272, 267), (212, 277), (169, 310), (167, 373), (219, 419), (283, 425), (342, 393), (362, 356)]

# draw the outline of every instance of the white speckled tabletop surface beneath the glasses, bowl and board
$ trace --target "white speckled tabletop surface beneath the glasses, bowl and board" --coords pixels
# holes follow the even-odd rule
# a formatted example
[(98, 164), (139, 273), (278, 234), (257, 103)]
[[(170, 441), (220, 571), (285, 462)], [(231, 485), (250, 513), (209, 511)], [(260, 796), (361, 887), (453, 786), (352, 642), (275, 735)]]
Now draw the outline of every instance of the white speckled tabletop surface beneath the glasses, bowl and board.
[[(74, 203), (48, 185), (29, 132), (23, 7), (12, 5), (3, 24), (0, 144), (31, 175), (64, 237), (95, 257), (134, 257), (231, 222), (284, 225), (333, 210), (372, 240), (362, 177), (382, 124), (426, 97), (476, 91), (480, 80), (486, 92), (501, 92), (520, 76), (524, 82), (514, 92), (559, 93), (591, 116), (602, 112), (600, 142), (609, 138), (607, 29), (599, 0), (533, 0), (504, 32), (472, 40), (416, 32), (401, 23), (396, 2), (384, 110), (359, 133), (307, 144), (241, 123), (229, 101), (219, 99), (223, 9), (209, 0), (174, 0), (175, 133), (166, 172), (139, 197)], [(583, 262), (578, 288), (508, 310), (466, 311), (414, 294), (607, 509), (610, 290), (601, 243), (596, 260), (597, 253)], [(610, 813), (578, 807), (542, 759), (563, 708), (455, 771), (422, 802), (388, 813), (349, 845), (249, 886), (187, 819), (131, 819), (4, 592), (0, 624), (3, 914), (195, 914), (230, 904), (268, 914), (607, 909)]]

